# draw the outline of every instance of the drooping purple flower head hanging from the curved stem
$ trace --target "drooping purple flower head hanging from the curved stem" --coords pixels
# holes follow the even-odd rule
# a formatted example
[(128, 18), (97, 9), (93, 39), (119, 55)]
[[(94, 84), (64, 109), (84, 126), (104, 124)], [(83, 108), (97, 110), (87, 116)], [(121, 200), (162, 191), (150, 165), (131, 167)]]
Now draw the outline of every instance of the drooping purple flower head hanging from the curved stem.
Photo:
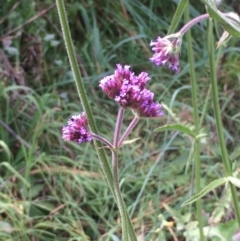
[(168, 63), (170, 69), (177, 71), (179, 66), (180, 45), (180, 35), (169, 35), (165, 38), (158, 37), (155, 42), (151, 41), (150, 43), (152, 51), (155, 52), (150, 58), (150, 61), (157, 66)]

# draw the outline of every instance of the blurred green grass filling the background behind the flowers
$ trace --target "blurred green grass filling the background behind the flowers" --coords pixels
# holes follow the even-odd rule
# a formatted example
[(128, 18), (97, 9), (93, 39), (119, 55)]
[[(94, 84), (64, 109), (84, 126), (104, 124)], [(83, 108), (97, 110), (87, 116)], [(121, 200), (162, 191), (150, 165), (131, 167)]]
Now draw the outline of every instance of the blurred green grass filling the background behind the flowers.
[[(17, 4), (6, 1), (0, 14), (1, 19), (6, 17), (0, 21), (1, 39), (12, 38), (10, 46), (2, 41), (0, 49), (0, 240), (120, 240), (119, 213), (93, 145), (61, 138), (62, 126), (82, 107), (56, 8), (24, 25), (20, 32), (10, 33), (52, 4), (23, 0), (11, 11), (13, 2)], [(79, 67), (102, 135), (112, 140), (117, 106), (98, 83), (116, 63), (131, 64), (136, 73), (147, 71), (155, 99), (175, 114), (158, 121), (141, 120), (130, 135), (141, 139), (120, 152), (123, 197), (134, 228), (144, 240), (173, 240), (170, 224), (164, 225), (164, 220), (171, 219), (175, 219), (172, 231), (179, 240), (193, 240), (189, 227), (196, 220), (195, 206), (181, 207), (194, 193), (189, 157), (192, 140), (177, 132), (153, 133), (154, 128), (176, 120), (193, 125), (185, 39), (179, 73), (156, 68), (148, 61), (149, 42), (167, 33), (174, 2), (66, 1)], [(192, 5), (191, 17), (203, 11), (203, 6)], [(201, 113), (209, 88), (206, 25), (195, 27), (192, 34)], [(239, 168), (238, 45), (233, 39), (223, 50), (218, 78), (226, 141)], [(132, 113), (127, 111), (124, 128), (131, 120)], [(224, 176), (211, 102), (201, 128), (207, 133), (201, 149), (204, 187)], [(227, 191), (221, 187), (203, 198), (205, 226), (216, 215), (214, 210), (220, 210), (217, 224), (229, 225), (233, 219)], [(189, 239), (184, 236), (186, 230)]]

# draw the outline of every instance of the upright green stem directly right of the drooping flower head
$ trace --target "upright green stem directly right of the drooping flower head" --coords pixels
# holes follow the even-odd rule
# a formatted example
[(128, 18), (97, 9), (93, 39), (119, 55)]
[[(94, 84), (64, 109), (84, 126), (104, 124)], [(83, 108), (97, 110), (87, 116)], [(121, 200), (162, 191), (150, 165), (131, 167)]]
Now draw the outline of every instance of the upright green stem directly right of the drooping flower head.
[[(189, 4), (188, 4), (189, 5)], [(185, 21), (189, 21), (189, 8), (185, 9)], [(195, 66), (193, 59), (193, 47), (192, 47), (192, 37), (190, 30), (186, 33), (187, 44), (188, 44), (188, 62), (190, 68), (190, 79), (192, 87), (192, 105), (193, 105), (193, 118), (195, 125), (195, 136), (199, 134), (199, 116), (198, 116), (198, 86), (195, 76)], [(194, 142), (194, 160), (195, 160), (195, 179), (196, 179), (196, 193), (201, 191), (201, 165), (200, 165), (200, 143), (199, 140)], [(198, 218), (198, 227), (200, 240), (205, 240), (203, 233), (203, 219), (202, 219), (202, 200), (198, 199), (196, 202), (197, 208), (197, 218)]]

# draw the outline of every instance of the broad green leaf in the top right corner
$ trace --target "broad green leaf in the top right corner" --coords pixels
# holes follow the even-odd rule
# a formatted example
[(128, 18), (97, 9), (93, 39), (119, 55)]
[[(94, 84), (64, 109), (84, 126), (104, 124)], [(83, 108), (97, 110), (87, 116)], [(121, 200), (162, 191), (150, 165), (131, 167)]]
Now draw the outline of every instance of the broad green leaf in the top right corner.
[[(217, 20), (222, 27), (231, 35), (240, 37), (240, 24), (226, 17), (226, 14), (217, 9), (214, 0), (201, 0), (206, 6), (211, 18)], [(236, 20), (237, 21), (237, 20)]]

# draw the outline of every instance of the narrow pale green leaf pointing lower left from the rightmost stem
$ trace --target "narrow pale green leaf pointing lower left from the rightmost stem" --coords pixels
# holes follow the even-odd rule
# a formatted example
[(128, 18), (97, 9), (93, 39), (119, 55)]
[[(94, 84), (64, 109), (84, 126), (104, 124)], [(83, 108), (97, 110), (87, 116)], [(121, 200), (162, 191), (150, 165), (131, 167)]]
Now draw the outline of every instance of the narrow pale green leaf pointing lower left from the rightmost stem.
[(182, 204), (183, 206), (189, 205), (191, 203), (196, 202), (199, 198), (203, 197), (204, 195), (206, 195), (208, 192), (212, 191), (213, 189), (221, 186), (222, 184), (226, 183), (228, 181), (227, 177), (222, 177), (219, 178), (217, 180), (214, 180), (213, 182), (211, 182), (209, 185), (207, 185), (205, 188), (203, 188), (199, 193), (193, 195), (192, 197), (190, 197), (187, 201), (185, 201)]

